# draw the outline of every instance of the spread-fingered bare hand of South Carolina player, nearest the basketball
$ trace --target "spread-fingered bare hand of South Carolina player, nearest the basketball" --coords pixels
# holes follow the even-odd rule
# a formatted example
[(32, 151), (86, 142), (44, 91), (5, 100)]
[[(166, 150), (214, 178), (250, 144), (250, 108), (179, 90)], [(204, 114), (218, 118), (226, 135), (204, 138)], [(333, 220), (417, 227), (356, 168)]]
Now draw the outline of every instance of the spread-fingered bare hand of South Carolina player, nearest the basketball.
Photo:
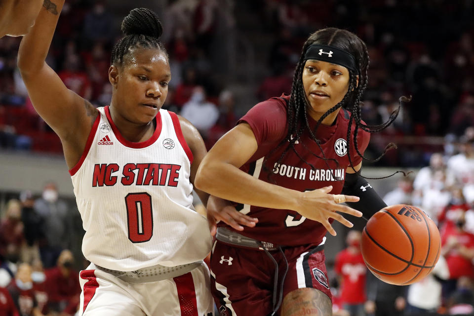
[(332, 186), (329, 186), (302, 192), (301, 197), (298, 199), (298, 205), (294, 210), (306, 218), (321, 223), (329, 234), (336, 236), (336, 231), (329, 223), (329, 218), (333, 218), (344, 226), (353, 227), (354, 224), (337, 212), (356, 217), (361, 217), (362, 213), (349, 206), (339, 204), (343, 202), (357, 202), (359, 197), (328, 194), (331, 190)]

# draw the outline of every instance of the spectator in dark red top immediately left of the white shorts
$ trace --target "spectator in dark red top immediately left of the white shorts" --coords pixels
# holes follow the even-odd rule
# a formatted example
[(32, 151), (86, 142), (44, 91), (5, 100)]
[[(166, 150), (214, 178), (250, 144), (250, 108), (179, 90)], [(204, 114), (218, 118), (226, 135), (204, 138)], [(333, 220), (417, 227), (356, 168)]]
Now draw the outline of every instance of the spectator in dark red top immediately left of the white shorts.
[(73, 269), (74, 257), (70, 250), (63, 250), (57, 266), (45, 271), (49, 292), (50, 311), (73, 315), (79, 306), (79, 274)]

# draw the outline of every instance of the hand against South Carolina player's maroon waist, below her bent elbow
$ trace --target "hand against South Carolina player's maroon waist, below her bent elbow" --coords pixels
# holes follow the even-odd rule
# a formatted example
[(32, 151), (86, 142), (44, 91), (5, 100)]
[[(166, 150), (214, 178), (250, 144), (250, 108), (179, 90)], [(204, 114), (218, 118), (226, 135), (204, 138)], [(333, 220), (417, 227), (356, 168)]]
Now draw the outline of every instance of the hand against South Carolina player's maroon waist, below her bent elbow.
[(257, 218), (240, 213), (228, 200), (214, 196), (209, 196), (207, 200), (207, 220), (213, 236), (216, 234), (216, 224), (220, 221), (237, 231), (243, 231), (243, 226), (255, 227), (258, 223)]

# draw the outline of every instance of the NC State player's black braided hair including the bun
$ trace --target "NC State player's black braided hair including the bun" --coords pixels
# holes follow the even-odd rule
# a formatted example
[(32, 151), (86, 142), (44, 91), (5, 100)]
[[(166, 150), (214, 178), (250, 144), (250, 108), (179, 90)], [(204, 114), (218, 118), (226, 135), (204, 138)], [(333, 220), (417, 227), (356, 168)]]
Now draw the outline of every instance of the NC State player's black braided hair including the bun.
[(134, 48), (158, 48), (166, 54), (166, 49), (159, 41), (163, 28), (154, 11), (146, 8), (131, 10), (123, 19), (121, 30), (125, 36), (112, 48), (112, 65), (123, 65), (124, 59)]

